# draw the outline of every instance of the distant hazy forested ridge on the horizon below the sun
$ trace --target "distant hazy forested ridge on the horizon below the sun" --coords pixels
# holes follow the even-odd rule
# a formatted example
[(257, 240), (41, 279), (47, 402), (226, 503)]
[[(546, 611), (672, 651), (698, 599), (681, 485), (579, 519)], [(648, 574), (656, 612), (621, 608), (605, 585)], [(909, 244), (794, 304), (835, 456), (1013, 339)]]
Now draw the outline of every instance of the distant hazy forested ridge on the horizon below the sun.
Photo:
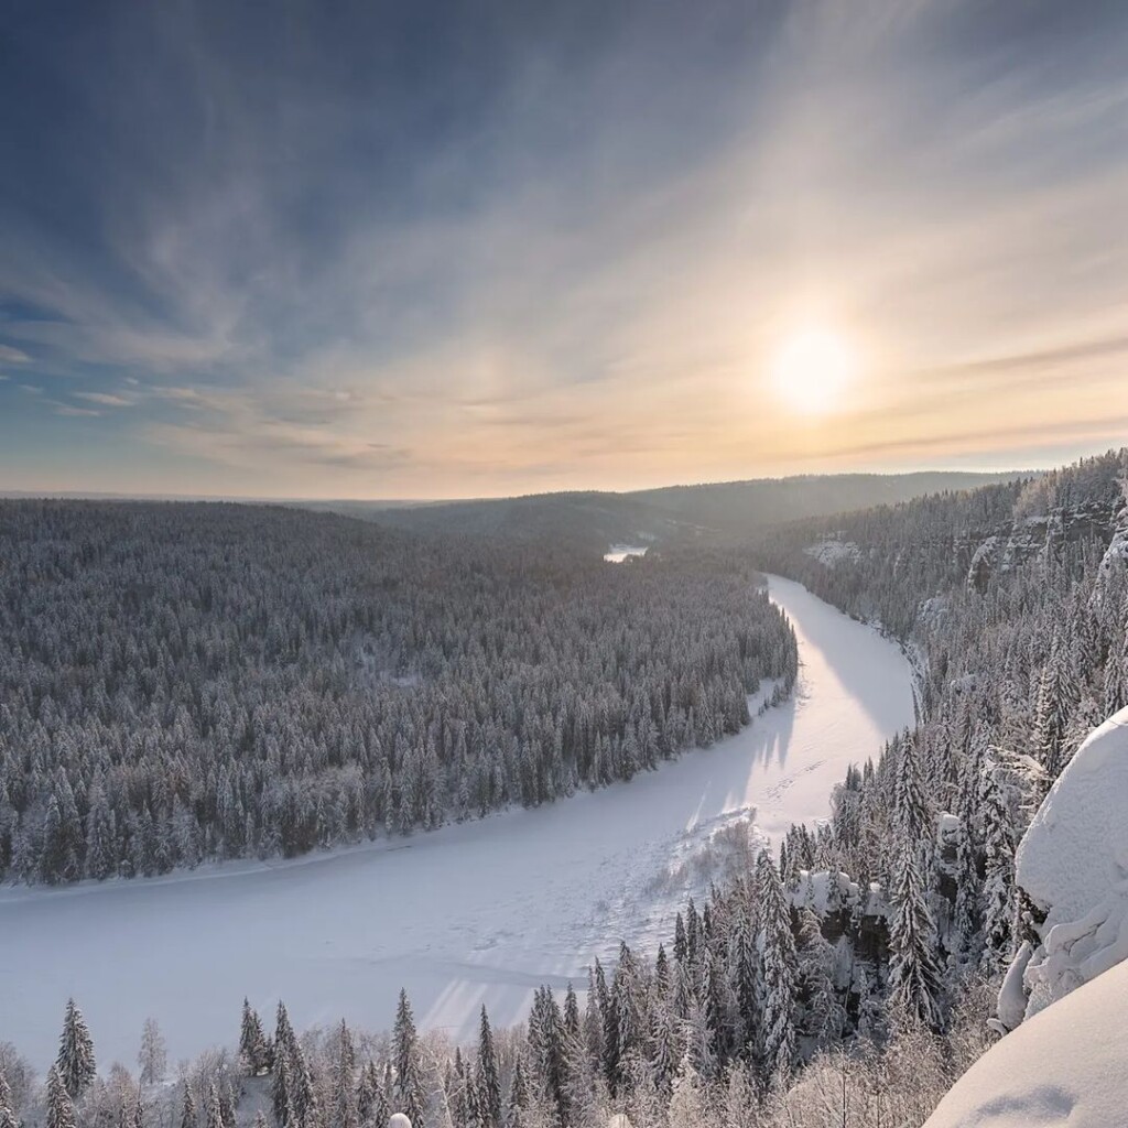
[[(613, 543), (726, 543), (801, 518), (892, 504), (942, 491), (1013, 481), (1017, 473), (801, 475), (706, 485), (668, 486), (634, 493), (530, 494), (488, 501), (372, 508), (382, 525), (417, 531), (465, 532), (526, 541), (571, 541), (602, 552)], [(347, 511), (365, 514), (363, 503)]]

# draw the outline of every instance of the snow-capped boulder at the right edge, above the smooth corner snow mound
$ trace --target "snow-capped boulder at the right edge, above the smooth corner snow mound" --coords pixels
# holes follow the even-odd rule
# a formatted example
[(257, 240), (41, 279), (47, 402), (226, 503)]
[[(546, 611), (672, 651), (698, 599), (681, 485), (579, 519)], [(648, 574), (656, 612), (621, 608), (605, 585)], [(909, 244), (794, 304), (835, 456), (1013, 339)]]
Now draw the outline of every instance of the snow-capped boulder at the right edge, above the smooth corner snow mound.
[(1046, 914), (1023, 975), (1030, 1017), (1128, 958), (1128, 708), (1077, 750), (1015, 864), (1019, 887)]

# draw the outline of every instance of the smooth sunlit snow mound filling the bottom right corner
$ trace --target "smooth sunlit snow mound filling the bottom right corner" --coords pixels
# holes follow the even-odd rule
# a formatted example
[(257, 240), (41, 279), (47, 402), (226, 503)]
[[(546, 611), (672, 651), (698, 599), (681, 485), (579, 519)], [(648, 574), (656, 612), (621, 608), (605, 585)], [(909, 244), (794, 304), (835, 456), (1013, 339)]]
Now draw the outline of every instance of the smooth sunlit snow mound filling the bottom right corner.
[(1128, 963), (1024, 1022), (940, 1102), (925, 1128), (1111, 1128), (1128, 1122)]

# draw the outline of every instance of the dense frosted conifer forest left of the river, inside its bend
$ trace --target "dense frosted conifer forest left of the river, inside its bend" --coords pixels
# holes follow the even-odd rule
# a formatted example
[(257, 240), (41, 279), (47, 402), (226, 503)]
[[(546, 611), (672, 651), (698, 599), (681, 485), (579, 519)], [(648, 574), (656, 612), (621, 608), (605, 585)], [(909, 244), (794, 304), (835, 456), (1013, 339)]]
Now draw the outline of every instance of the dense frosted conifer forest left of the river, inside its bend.
[(740, 557), (0, 502), (0, 879), (159, 873), (629, 778), (795, 675)]

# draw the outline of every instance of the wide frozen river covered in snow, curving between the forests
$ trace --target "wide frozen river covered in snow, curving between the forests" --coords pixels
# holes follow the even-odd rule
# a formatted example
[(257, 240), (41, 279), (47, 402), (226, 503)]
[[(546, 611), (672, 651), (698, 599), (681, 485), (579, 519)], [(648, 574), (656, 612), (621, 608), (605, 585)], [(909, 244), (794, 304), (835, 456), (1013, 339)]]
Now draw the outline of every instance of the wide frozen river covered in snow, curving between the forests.
[(770, 590), (799, 637), (794, 697), (631, 783), (293, 862), (0, 891), (0, 1039), (44, 1067), (73, 995), (102, 1067), (132, 1064), (150, 1015), (176, 1060), (232, 1043), (244, 995), (283, 997), (299, 1029), (376, 1030), (400, 986), (424, 1026), (469, 1038), (483, 1002), (511, 1023), (620, 938), (656, 946), (719, 830), (755, 814), (776, 840), (826, 817), (846, 765), (913, 721), (893, 643), (799, 584)]

